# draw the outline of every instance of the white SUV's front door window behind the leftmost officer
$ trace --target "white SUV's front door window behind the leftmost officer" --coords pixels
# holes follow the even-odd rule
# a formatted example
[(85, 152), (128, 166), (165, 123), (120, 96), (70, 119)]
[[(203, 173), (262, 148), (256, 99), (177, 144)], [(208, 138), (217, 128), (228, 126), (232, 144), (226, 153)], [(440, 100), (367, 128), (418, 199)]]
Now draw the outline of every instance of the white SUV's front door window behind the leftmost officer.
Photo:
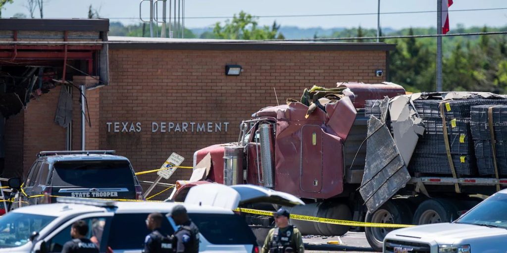
[[(86, 238), (89, 238), (92, 242), (97, 244), (97, 247), (100, 248), (102, 242), (102, 233), (105, 228), (106, 219), (103, 217), (94, 217), (94, 218), (86, 218), (83, 219), (88, 224), (88, 233), (86, 234)], [(70, 237), (70, 229), (72, 225), (68, 225), (58, 234), (53, 236), (51, 239), (46, 241), (47, 252), (61, 252), (63, 248), (63, 244), (65, 242), (72, 240)]]

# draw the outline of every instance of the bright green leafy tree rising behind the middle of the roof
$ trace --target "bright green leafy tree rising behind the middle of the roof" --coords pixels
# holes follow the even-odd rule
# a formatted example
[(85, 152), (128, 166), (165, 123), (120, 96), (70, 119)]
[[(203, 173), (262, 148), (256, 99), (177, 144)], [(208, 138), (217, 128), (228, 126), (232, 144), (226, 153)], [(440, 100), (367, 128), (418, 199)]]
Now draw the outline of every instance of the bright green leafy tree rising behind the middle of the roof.
[(225, 39), (283, 38), (283, 35), (278, 32), (280, 25), (276, 24), (276, 21), (271, 27), (260, 27), (257, 20), (255, 16), (241, 11), (238, 16), (234, 15), (232, 20), (226, 20), (224, 25), (217, 22), (213, 28), (213, 34), (215, 38)]

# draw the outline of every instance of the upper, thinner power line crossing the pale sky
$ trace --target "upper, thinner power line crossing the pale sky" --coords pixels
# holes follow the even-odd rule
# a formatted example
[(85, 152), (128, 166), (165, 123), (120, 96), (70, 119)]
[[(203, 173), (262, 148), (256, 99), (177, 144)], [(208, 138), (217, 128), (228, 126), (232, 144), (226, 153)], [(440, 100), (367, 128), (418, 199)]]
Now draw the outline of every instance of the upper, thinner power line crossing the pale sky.
[[(449, 10), (449, 12), (469, 12), (469, 11), (496, 11), (507, 10), (507, 8), (488, 8), (488, 9), (462, 9)], [(417, 13), (437, 13), (438, 11), (413, 11), (413, 12), (381, 12), (380, 15), (392, 14), (417, 14)], [(298, 18), (298, 17), (333, 17), (333, 16), (366, 16), (377, 15), (378, 13), (340, 13), (340, 14), (301, 14), (301, 15), (266, 15), (254, 16), (256, 18)], [(211, 17), (185, 17), (185, 19), (227, 19), (234, 18), (230, 16), (211, 16)], [(138, 17), (108, 18), (108, 19), (139, 19)]]

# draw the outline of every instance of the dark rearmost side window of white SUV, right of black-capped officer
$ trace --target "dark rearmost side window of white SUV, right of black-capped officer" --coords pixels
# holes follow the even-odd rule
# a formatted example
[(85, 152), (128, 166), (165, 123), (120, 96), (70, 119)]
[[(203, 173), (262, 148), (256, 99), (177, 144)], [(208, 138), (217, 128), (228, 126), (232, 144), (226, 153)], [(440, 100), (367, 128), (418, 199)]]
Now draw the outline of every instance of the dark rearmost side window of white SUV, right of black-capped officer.
[(244, 219), (234, 214), (189, 214), (199, 232), (213, 244), (257, 244)]

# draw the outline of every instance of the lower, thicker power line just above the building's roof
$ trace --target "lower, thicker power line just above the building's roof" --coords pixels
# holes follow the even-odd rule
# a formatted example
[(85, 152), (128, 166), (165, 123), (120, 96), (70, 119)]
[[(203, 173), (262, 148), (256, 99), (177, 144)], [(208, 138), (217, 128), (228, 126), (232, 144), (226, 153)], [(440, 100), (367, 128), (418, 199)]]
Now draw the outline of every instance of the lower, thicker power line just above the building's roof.
[[(448, 33), (448, 34), (423, 34), (423, 35), (394, 35), (394, 36), (381, 36), (380, 39), (386, 38), (427, 38), (427, 37), (452, 37), (452, 36), (474, 36), (474, 35), (493, 35), (493, 34), (507, 34), (507, 31), (497, 32), (468, 32), (468, 33)], [(333, 41), (333, 40), (350, 40), (350, 39), (377, 39), (377, 36), (370, 37), (339, 37), (339, 38), (301, 38), (301, 39), (264, 39), (264, 40), (249, 40), (249, 41)]]

